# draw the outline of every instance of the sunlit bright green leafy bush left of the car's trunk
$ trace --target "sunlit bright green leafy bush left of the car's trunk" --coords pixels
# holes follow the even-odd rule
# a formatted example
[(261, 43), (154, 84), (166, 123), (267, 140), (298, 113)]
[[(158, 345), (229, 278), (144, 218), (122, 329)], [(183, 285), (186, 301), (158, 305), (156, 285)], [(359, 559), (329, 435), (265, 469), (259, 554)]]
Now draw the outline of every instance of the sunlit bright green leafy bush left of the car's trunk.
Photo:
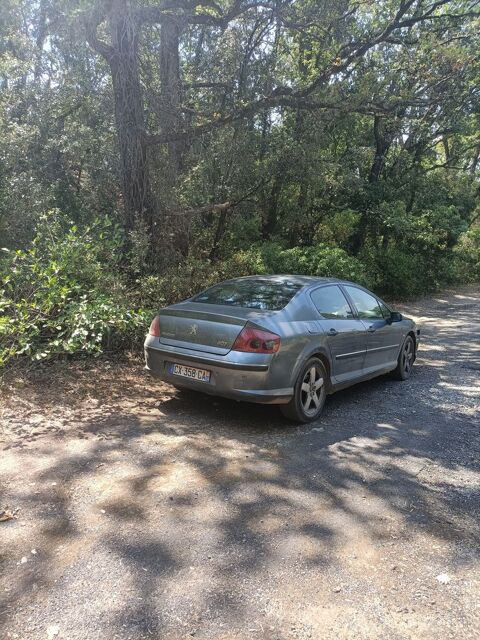
[(0, 263), (0, 365), (99, 354), (142, 337), (150, 314), (132, 309), (119, 275), (123, 236), (108, 220), (84, 229), (42, 217), (27, 251)]

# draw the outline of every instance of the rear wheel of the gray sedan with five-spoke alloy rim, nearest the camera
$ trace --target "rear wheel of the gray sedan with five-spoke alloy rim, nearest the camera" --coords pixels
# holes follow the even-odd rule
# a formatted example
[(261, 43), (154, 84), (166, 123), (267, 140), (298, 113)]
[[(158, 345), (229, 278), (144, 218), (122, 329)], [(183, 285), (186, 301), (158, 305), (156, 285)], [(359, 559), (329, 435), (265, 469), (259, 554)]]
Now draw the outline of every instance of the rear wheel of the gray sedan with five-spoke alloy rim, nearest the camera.
[(281, 405), (283, 415), (294, 422), (313, 422), (323, 410), (327, 397), (327, 371), (319, 358), (310, 358), (302, 367), (292, 399)]

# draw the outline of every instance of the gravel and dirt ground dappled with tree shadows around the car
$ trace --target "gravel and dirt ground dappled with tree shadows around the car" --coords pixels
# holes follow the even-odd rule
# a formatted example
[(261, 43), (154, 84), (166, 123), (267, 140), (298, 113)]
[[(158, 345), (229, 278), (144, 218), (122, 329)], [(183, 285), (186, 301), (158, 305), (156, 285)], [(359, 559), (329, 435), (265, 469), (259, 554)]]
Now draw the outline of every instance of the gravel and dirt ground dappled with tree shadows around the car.
[(0, 638), (480, 637), (480, 287), (402, 308), (410, 380), (274, 407), (140, 360), (0, 388)]

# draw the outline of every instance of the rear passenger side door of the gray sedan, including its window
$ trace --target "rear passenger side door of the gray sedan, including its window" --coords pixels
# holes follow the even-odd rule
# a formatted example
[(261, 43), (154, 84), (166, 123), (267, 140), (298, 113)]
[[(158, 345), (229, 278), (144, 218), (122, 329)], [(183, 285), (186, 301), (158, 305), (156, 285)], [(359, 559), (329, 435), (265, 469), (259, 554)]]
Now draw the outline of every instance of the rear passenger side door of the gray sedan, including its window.
[(355, 317), (338, 285), (323, 285), (311, 292), (332, 359), (332, 381), (341, 383), (360, 378), (367, 350), (365, 325)]

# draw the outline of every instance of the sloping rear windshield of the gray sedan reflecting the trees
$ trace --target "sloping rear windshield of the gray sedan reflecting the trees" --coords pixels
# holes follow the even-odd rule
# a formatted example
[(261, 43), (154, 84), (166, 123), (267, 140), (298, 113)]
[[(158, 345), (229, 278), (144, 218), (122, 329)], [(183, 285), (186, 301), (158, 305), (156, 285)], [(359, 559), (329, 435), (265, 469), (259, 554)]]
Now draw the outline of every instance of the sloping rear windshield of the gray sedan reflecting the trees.
[(301, 284), (289, 282), (288, 280), (282, 282), (238, 280), (236, 282), (216, 284), (195, 296), (193, 302), (279, 311), (290, 302), (301, 288)]

